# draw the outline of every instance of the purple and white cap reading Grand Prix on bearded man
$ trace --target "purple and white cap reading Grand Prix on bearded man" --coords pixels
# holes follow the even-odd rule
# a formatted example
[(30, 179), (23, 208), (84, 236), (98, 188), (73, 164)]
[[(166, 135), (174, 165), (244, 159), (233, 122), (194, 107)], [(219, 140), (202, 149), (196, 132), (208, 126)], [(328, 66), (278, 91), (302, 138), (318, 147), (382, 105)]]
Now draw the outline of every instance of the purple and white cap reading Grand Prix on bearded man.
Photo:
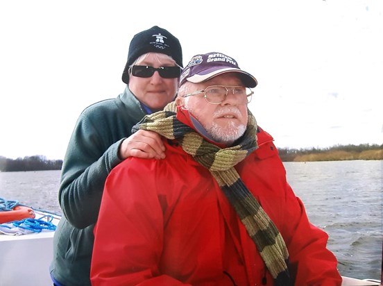
[(254, 76), (239, 68), (234, 58), (223, 53), (212, 52), (196, 55), (191, 58), (182, 71), (180, 85), (183, 85), (186, 81), (202, 83), (210, 78), (214, 78), (214, 76), (227, 72), (237, 72), (246, 87), (256, 87), (258, 84)]

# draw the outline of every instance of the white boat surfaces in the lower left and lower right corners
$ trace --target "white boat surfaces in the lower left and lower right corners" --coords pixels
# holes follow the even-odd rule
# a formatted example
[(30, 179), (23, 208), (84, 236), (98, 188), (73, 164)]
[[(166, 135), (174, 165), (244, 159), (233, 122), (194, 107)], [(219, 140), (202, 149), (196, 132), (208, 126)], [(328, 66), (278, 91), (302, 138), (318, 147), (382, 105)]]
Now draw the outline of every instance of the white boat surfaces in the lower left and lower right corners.
[[(60, 216), (36, 211), (36, 219), (46, 214), (53, 216), (57, 226)], [(49, 276), (49, 264), (53, 257), (53, 230), (26, 235), (0, 235), (0, 286), (53, 285)], [(342, 286), (381, 285), (378, 280), (355, 279), (342, 276)]]

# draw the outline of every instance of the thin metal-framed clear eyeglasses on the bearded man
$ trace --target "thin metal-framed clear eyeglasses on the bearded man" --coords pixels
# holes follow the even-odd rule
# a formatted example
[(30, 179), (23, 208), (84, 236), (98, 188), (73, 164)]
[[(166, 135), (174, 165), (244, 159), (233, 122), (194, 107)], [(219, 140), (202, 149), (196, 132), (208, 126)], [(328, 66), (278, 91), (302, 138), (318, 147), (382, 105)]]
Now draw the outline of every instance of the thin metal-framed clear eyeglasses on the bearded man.
[(189, 94), (182, 95), (182, 97), (192, 96), (200, 93), (205, 94), (205, 100), (208, 103), (220, 104), (228, 96), (229, 90), (232, 91), (232, 94), (236, 96), (236, 99), (239, 101), (239, 104), (246, 104), (251, 101), (251, 97), (254, 94), (252, 90), (248, 87), (243, 86), (230, 86), (226, 87), (223, 85), (210, 85), (205, 88), (205, 90), (198, 90), (196, 92), (191, 92)]

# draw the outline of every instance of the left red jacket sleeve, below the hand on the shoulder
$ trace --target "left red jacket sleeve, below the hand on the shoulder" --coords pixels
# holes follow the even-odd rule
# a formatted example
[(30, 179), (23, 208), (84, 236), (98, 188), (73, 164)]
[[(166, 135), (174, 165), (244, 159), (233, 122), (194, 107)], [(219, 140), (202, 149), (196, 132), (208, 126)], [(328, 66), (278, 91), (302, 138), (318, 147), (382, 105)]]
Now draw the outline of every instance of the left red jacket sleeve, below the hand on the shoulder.
[(185, 285), (160, 274), (164, 218), (155, 167), (135, 162), (128, 158), (106, 180), (94, 228), (92, 285)]

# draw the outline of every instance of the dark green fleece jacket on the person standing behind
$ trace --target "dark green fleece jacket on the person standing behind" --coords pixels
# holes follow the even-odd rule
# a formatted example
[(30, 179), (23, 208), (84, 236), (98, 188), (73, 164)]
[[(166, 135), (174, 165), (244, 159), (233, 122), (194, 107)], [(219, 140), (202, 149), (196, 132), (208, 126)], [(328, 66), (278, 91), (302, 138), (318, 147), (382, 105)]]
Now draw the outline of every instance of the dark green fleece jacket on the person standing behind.
[(90, 285), (93, 228), (106, 177), (121, 160), (118, 149), (146, 115), (128, 86), (115, 99), (83, 110), (71, 135), (60, 179), (63, 216), (53, 239), (51, 276), (62, 285)]

